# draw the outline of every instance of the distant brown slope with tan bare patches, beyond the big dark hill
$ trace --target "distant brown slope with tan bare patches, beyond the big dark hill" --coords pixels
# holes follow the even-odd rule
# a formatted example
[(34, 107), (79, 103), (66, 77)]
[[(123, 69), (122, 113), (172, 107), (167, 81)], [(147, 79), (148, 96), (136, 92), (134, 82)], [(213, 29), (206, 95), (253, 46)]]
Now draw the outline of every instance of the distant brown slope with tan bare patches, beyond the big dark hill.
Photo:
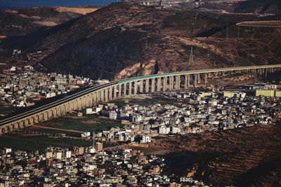
[(34, 7), (0, 11), (0, 35), (23, 36), (96, 10), (94, 7)]

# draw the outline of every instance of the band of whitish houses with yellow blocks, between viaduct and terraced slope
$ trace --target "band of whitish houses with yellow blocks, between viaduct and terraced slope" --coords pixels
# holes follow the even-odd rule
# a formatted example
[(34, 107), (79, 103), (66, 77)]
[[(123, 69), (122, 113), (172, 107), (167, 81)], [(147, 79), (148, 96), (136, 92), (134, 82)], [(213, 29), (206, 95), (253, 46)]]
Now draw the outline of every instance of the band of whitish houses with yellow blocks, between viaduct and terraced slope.
[[(174, 99), (174, 104), (107, 103), (85, 109), (84, 113), (98, 113), (124, 124), (124, 128), (96, 133), (96, 139), (138, 143), (171, 134), (274, 125), (281, 119), (281, 91), (276, 85), (247, 85), (243, 89), (246, 90), (166, 92), (157, 97)], [(90, 138), (91, 132), (81, 137)]]

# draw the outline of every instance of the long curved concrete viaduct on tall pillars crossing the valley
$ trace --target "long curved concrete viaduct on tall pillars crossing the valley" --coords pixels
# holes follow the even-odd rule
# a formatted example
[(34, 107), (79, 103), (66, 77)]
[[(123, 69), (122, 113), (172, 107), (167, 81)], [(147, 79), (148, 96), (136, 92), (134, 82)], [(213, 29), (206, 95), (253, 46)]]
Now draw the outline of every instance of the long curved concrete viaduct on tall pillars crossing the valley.
[(275, 64), (266, 66), (202, 69), (126, 78), (86, 88), (80, 92), (58, 99), (55, 102), (50, 102), (44, 106), (37, 106), (29, 111), (4, 118), (0, 121), (0, 134), (13, 132), (19, 128), (64, 116), (67, 112), (81, 110), (93, 104), (108, 102), (126, 95), (179, 90), (190, 87), (196, 88), (200, 83), (208, 83), (208, 78), (219, 77), (222, 74), (235, 74), (239, 72), (265, 74), (266, 72), (280, 70), (281, 64)]

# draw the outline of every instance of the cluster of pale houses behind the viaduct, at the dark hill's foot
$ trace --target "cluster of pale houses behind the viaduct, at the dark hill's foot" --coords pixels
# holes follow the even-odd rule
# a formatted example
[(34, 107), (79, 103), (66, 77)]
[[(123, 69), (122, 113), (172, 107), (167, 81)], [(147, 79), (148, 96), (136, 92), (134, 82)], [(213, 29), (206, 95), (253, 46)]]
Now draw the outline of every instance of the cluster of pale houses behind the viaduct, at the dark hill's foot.
[(32, 66), (11, 67), (0, 74), (2, 106), (32, 106), (40, 99), (63, 95), (77, 88), (103, 83), (90, 78), (63, 74), (46, 74)]

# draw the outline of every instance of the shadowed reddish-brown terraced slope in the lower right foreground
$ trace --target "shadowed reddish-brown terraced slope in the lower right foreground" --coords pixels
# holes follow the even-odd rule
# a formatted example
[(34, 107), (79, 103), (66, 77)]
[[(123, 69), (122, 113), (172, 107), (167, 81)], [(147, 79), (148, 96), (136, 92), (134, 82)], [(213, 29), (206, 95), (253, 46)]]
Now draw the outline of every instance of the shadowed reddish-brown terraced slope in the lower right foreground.
[[(204, 132), (128, 145), (162, 154), (168, 174), (190, 176), (214, 186), (280, 186), (281, 125)], [(108, 148), (115, 151), (116, 148)]]

